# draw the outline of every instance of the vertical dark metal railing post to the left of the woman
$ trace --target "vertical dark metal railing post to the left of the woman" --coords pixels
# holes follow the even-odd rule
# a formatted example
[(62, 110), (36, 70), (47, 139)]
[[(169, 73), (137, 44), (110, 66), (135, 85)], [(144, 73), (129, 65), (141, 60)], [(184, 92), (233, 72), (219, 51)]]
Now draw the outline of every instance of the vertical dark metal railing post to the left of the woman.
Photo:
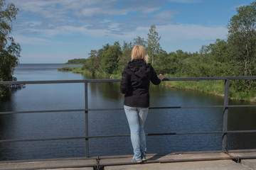
[[(89, 136), (88, 83), (85, 81), (85, 136)], [(85, 138), (85, 157), (89, 157), (89, 139)]]

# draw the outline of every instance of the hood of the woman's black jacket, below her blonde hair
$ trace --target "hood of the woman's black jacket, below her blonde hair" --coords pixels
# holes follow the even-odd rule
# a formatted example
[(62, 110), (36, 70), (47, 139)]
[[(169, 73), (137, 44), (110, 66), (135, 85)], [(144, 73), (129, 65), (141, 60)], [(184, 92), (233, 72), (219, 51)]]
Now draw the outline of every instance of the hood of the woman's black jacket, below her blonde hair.
[(140, 79), (145, 79), (149, 76), (150, 64), (146, 64), (142, 59), (132, 60), (128, 63), (127, 69)]

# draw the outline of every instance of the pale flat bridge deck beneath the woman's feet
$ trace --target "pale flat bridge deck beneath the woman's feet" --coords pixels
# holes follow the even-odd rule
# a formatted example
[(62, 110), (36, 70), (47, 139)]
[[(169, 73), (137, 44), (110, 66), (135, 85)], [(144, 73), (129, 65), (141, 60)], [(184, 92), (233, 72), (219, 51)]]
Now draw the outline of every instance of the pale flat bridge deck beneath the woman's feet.
[(131, 162), (132, 155), (107, 157), (79, 157), (66, 159), (38, 159), (0, 162), (0, 170), (9, 169), (171, 169), (171, 170), (256, 170), (256, 149), (232, 150), (228, 153), (181, 152), (171, 154), (149, 154), (141, 164)]

